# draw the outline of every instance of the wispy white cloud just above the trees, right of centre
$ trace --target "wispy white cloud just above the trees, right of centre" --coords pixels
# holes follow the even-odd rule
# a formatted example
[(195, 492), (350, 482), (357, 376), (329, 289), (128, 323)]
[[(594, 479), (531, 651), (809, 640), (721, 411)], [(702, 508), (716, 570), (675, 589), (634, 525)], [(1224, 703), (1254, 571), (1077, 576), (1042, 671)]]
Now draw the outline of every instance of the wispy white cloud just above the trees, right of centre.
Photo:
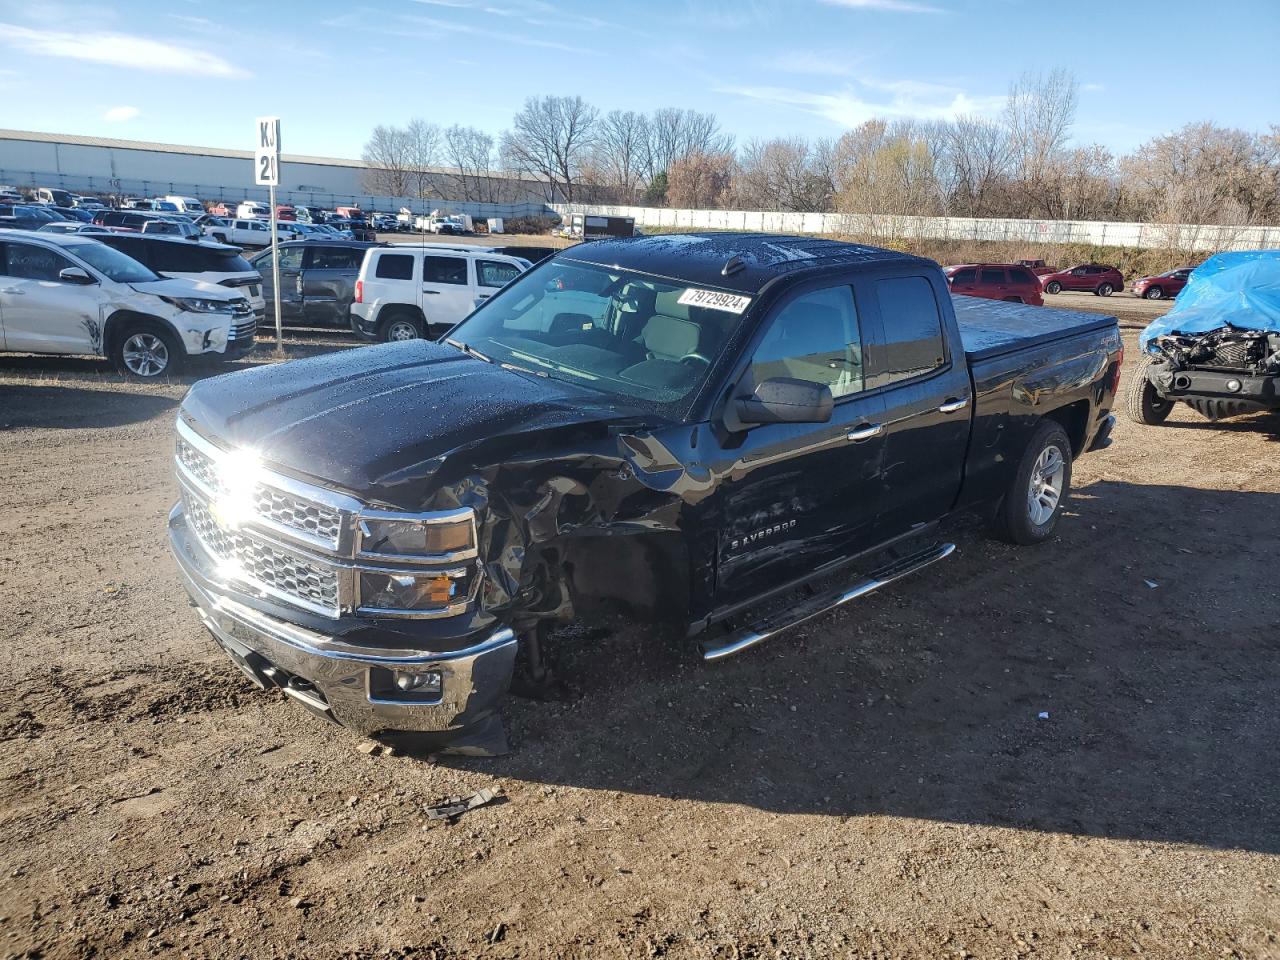
[(950, 120), (966, 114), (992, 115), (1005, 106), (1004, 95), (974, 96), (963, 90), (915, 81), (863, 81), (863, 87), (890, 93), (876, 99), (854, 84), (833, 92), (790, 87), (721, 87), (719, 92), (765, 104), (794, 106), (824, 116), (841, 127), (856, 127), (876, 118)]

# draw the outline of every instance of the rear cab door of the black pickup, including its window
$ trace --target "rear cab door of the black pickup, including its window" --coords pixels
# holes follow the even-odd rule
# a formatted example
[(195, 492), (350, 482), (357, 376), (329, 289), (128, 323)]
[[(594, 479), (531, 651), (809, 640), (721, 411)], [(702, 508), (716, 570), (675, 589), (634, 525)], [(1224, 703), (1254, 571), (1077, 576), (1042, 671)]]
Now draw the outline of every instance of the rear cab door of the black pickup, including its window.
[(951, 509), (969, 442), (969, 367), (952, 355), (943, 326), (943, 293), (929, 276), (859, 278), (864, 316), (876, 339), (868, 381), (884, 404), (883, 497), (879, 540), (909, 532)]

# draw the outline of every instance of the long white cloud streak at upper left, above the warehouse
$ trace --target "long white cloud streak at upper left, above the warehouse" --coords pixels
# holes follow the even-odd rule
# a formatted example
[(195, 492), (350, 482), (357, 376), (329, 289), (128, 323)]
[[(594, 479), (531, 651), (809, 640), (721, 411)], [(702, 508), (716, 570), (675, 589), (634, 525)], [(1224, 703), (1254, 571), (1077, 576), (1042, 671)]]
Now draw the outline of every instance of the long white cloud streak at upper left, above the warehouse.
[(35, 29), (0, 23), (0, 44), (31, 54), (68, 60), (87, 60), (111, 67), (132, 67), (164, 73), (193, 73), (201, 77), (247, 77), (216, 54), (179, 44), (166, 44), (131, 33)]

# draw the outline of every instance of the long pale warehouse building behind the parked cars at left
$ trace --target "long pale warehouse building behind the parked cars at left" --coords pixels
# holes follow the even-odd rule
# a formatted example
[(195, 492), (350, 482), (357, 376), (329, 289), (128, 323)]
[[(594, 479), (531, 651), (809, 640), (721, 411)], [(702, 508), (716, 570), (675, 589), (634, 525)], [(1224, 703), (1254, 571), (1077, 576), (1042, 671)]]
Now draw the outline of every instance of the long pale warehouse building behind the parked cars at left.
[[(151, 143), (114, 137), (0, 129), (0, 184), (18, 189), (56, 187), (93, 196), (156, 197), (168, 193), (204, 201), (266, 200), (268, 188), (253, 184), (253, 154), (248, 150)], [(321, 207), (356, 205), (394, 211), (448, 202), (451, 210), (481, 216), (532, 216), (544, 212), (544, 184), (504, 180), (513, 204), (453, 200), (449, 170), (434, 170), (436, 197), (410, 200), (370, 195), (362, 182), (361, 160), (282, 154), (282, 204)]]

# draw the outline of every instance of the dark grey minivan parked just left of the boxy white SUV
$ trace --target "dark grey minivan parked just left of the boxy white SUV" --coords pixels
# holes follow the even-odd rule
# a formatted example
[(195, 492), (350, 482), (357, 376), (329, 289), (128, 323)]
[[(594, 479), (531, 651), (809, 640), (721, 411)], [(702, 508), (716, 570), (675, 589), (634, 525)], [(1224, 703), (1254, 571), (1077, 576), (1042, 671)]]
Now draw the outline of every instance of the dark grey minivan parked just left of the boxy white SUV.
[[(282, 243), (282, 323), (353, 329), (351, 303), (356, 280), (365, 252), (374, 246), (381, 244), (339, 239)], [(261, 276), (262, 296), (273, 302), (271, 252), (259, 253), (250, 264)]]

